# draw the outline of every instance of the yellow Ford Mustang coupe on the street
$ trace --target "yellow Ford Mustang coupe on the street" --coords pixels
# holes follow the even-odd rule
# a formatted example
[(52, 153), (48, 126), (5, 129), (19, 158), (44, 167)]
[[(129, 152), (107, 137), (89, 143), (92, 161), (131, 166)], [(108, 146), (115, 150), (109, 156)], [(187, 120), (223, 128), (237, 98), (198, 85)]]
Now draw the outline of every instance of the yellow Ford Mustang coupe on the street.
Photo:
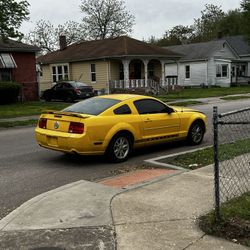
[(206, 116), (188, 108), (170, 107), (141, 95), (104, 95), (40, 116), (40, 146), (81, 155), (106, 154), (125, 161), (136, 147), (187, 139), (201, 143)]

